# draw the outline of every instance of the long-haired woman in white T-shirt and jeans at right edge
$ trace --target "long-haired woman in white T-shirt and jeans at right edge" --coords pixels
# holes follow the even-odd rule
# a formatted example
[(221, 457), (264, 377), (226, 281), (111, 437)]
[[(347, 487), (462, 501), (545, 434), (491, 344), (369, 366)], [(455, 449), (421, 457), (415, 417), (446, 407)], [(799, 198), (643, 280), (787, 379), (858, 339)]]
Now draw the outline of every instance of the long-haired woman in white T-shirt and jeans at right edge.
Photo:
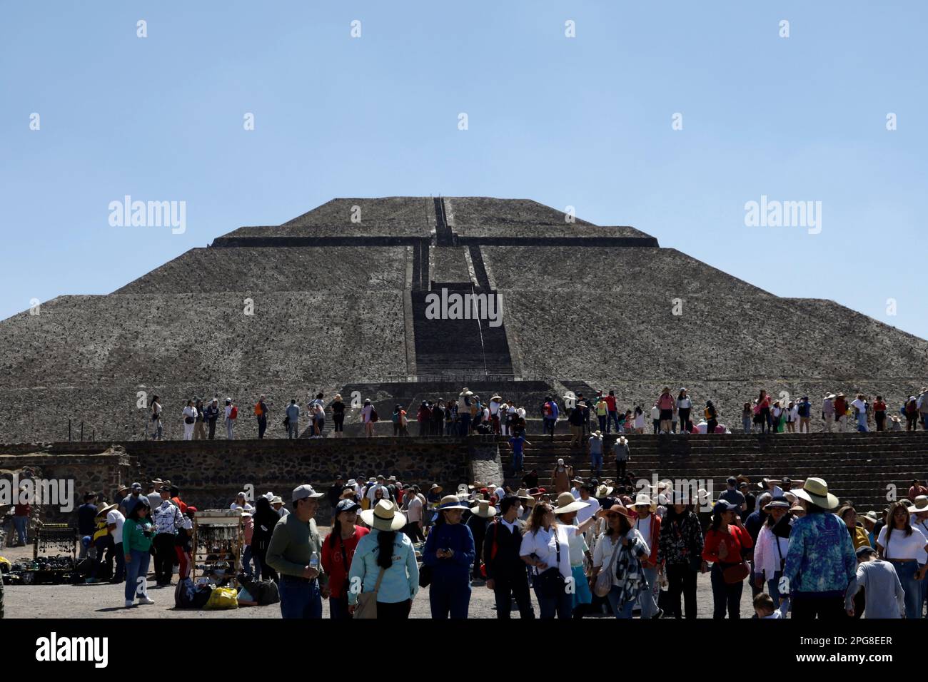
[[(876, 539), (880, 559), (889, 561), (896, 568), (899, 582), (906, 592), (906, 618), (922, 617), (922, 585), (925, 567), (919, 566), (928, 550), (928, 538), (918, 527), (913, 527), (909, 508), (901, 502), (889, 506), (886, 525)], [(869, 597), (869, 595), (865, 595)]]

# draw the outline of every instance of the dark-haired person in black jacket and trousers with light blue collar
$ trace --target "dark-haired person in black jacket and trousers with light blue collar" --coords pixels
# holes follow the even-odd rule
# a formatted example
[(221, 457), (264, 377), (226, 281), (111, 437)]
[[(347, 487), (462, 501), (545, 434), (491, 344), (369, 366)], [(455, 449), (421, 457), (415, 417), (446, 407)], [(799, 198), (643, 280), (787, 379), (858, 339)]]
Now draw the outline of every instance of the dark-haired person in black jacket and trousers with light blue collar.
[[(531, 500), (528, 495), (522, 499)], [(519, 556), (522, 548), (522, 522), (519, 521), (521, 498), (516, 495), (499, 501), (499, 513), (487, 528), (483, 540), (486, 587), (496, 599), (496, 618), (509, 619), (512, 599), (519, 607), (520, 618), (535, 618), (528, 591), (528, 573)]]

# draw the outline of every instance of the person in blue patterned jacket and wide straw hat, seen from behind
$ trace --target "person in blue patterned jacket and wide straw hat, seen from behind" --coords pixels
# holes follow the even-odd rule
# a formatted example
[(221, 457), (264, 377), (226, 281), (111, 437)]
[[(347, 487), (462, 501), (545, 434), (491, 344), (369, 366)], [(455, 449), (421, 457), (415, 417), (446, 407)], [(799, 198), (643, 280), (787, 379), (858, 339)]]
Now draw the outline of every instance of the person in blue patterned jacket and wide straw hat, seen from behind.
[(844, 522), (830, 513), (838, 498), (819, 478), (806, 479), (794, 493), (805, 515), (793, 520), (780, 594), (789, 593), (794, 620), (844, 618), (844, 592), (857, 573), (857, 555)]

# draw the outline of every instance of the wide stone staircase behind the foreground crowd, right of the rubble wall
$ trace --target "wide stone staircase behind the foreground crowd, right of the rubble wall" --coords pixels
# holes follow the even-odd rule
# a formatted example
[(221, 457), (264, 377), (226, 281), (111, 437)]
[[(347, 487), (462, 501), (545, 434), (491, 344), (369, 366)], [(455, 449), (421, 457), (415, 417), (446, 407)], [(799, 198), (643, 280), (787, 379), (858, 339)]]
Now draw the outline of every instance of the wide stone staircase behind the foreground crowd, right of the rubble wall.
[[(916, 433), (812, 433), (774, 435), (661, 435), (627, 436), (631, 459), (627, 471), (636, 481), (653, 475), (659, 481), (688, 482), (700, 487), (711, 481), (714, 497), (726, 489), (728, 476), (743, 474), (757, 483), (762, 478), (784, 476), (802, 481), (810, 476), (825, 479), (829, 491), (842, 501), (857, 505), (858, 513), (883, 509), (891, 495), (904, 497), (912, 479), (925, 479), (928, 432)], [(524, 470), (537, 470), (541, 486), (548, 486), (558, 458), (574, 467), (575, 474), (588, 481), (590, 458), (586, 450), (572, 448), (570, 437), (556, 434), (553, 443), (530, 436), (524, 450)], [(615, 479), (612, 460), (614, 436), (604, 442), (605, 463), (602, 478)], [(509, 444), (501, 442), (507, 483), (517, 486), (521, 475), (512, 476)], [(684, 484), (684, 483), (679, 483)]]

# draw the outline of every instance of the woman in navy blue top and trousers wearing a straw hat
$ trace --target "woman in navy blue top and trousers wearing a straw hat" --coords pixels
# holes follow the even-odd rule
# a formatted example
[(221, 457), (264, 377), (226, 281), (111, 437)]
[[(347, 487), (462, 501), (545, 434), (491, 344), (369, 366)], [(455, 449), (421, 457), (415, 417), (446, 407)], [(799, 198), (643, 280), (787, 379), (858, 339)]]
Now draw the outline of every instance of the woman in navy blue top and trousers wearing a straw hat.
[(465, 505), (458, 495), (445, 495), (438, 517), (422, 552), (422, 561), (432, 567), (429, 604), (432, 618), (467, 618), (470, 606), (470, 566), (475, 550), (470, 528), (461, 523)]

